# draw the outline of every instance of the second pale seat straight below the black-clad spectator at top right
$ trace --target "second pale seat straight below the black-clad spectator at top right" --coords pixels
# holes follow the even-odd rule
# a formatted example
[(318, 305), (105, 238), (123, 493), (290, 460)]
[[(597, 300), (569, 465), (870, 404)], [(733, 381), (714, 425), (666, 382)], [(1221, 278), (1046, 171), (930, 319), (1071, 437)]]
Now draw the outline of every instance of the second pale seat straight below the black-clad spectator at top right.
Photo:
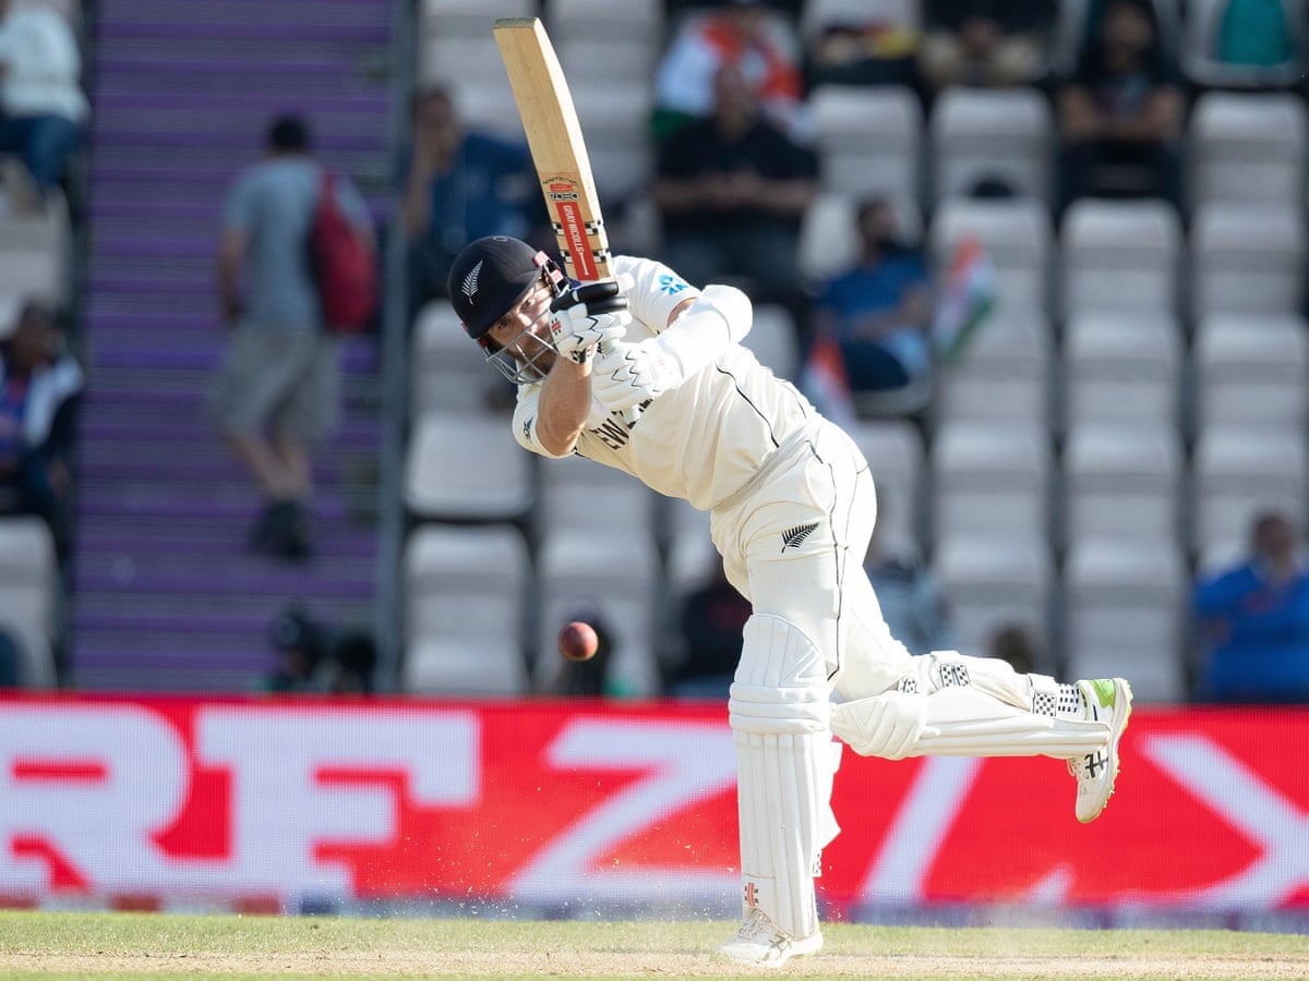
[(1181, 425), (1181, 371), (1174, 314), (1075, 314), (1064, 326), (1063, 424)]

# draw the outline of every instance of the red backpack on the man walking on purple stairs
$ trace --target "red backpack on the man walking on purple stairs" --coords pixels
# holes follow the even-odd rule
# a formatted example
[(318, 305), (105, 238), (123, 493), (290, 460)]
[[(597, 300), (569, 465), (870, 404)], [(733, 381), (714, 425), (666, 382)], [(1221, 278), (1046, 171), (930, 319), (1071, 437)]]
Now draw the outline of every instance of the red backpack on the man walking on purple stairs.
[(336, 201), (335, 181), (326, 170), (309, 226), (309, 268), (327, 328), (363, 332), (377, 310), (377, 266)]

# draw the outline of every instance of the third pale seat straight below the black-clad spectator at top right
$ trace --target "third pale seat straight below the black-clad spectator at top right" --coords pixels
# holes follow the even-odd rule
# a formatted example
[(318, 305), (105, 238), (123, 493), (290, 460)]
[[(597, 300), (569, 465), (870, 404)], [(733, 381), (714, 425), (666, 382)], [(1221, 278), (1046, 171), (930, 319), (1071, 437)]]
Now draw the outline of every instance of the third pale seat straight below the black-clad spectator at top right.
[(1178, 540), (1185, 455), (1175, 426), (1089, 422), (1067, 434), (1062, 528), (1073, 540)]

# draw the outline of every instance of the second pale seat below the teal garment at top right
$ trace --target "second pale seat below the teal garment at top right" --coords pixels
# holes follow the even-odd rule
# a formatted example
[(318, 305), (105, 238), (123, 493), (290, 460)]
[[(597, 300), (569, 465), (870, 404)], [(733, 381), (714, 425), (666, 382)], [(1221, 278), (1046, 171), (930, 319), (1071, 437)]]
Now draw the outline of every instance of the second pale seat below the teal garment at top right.
[(1305, 218), (1299, 207), (1208, 201), (1191, 228), (1192, 315), (1299, 313)]

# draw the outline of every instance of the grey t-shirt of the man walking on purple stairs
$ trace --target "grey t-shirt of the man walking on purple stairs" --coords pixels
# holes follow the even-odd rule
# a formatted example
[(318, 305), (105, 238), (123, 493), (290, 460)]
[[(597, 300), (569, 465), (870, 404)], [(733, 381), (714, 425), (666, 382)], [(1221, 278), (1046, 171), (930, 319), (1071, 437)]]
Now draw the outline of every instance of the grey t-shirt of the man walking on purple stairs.
[[(306, 247), (321, 175), (312, 157), (275, 157), (245, 170), (228, 192), (223, 230), (246, 235), (245, 319), (250, 323), (279, 330), (322, 327)], [(351, 221), (367, 226), (368, 205), (350, 178), (336, 174), (335, 187)]]

